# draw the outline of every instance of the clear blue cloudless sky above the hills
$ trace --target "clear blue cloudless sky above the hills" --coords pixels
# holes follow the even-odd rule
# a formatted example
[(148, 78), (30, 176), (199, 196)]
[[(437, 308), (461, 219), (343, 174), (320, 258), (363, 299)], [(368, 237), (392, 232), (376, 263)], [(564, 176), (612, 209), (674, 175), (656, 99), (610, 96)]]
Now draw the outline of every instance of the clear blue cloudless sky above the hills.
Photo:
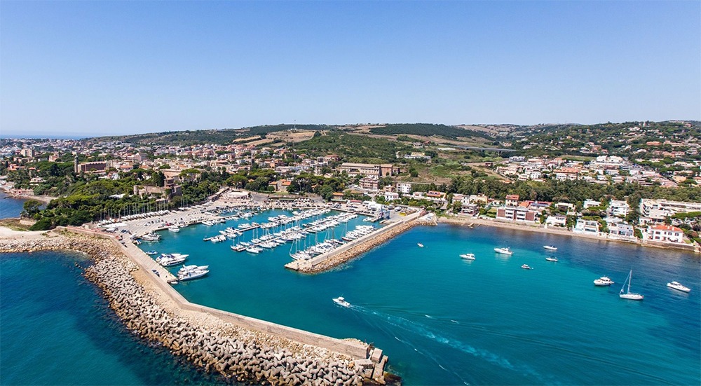
[(701, 120), (701, 1), (0, 1), (0, 137)]

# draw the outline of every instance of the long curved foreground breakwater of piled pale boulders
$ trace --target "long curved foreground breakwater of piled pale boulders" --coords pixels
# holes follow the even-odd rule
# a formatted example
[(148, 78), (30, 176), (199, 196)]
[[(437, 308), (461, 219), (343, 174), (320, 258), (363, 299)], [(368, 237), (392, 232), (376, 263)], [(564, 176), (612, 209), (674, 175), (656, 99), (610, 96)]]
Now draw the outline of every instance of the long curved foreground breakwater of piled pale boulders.
[[(285, 329), (297, 334), (306, 331), (258, 321), (275, 332), (266, 333), (231, 323), (226, 317), (219, 317), (218, 313), (225, 313), (219, 310), (201, 312), (196, 307), (182, 307), (167, 291), (159, 290), (168, 284), (154, 281), (153, 275), (125, 256), (115, 240), (69, 232), (46, 233), (31, 240), (0, 238), (0, 252), (40, 250), (87, 254), (94, 263), (86, 270), (86, 277), (102, 289), (111, 308), (129, 329), (206, 371), (217, 371), (240, 382), (271, 385), (350, 386), (384, 382), (387, 358), (381, 350), (358, 340), (347, 340), (349, 347), (362, 349), (362, 356), (353, 357), (281, 336)], [(336, 341), (334, 344), (339, 347), (346, 341), (306, 334), (320, 341)]]

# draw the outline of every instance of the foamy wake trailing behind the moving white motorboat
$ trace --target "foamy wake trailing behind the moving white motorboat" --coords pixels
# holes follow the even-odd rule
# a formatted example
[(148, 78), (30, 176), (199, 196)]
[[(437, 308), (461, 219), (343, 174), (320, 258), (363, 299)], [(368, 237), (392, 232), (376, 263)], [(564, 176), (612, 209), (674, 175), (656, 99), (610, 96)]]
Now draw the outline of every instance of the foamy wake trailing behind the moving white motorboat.
[[(460, 379), (465, 385), (469, 385), (469, 382), (465, 380), (461, 375), (456, 373), (455, 371), (450, 370), (449, 368), (446, 368), (442, 365), (441, 361), (439, 360), (439, 355), (438, 353), (432, 354), (430, 352), (427, 352), (423, 349), (420, 349), (417, 347), (417, 345), (414, 345), (411, 343), (411, 338), (404, 337), (400, 338), (400, 336), (397, 336), (396, 330), (395, 331), (390, 331), (390, 326), (395, 326), (399, 329), (402, 329), (403, 331), (409, 333), (409, 337), (411, 335), (414, 336), (421, 336), (423, 338), (428, 338), (430, 340), (433, 340), (436, 343), (440, 343), (442, 345), (446, 345), (448, 347), (453, 348), (454, 350), (458, 350), (460, 352), (464, 352), (465, 354), (470, 354), (473, 357), (478, 357), (480, 359), (484, 359), (485, 361), (488, 361), (491, 364), (494, 364), (496, 366), (499, 366), (501, 368), (506, 368), (511, 371), (516, 371), (519, 373), (523, 373), (524, 375), (530, 375), (533, 377), (538, 378), (540, 382), (547, 383), (547, 382), (552, 382), (552, 380), (546, 380), (542, 375), (540, 375), (537, 371), (533, 370), (533, 368), (530, 368), (529, 366), (522, 366), (522, 365), (515, 365), (512, 364), (508, 359), (505, 359), (503, 357), (499, 357), (498, 355), (486, 351), (486, 350), (480, 350), (476, 347), (472, 347), (472, 345), (468, 345), (467, 343), (462, 342), (461, 340), (455, 339), (455, 338), (449, 338), (447, 336), (442, 336), (440, 333), (436, 333), (435, 331), (432, 331), (428, 326), (425, 326), (421, 323), (418, 322), (412, 322), (409, 319), (404, 319), (403, 317), (398, 317), (395, 315), (389, 315), (384, 312), (379, 312), (376, 310), (371, 310), (369, 308), (363, 307), (362, 305), (351, 305), (351, 310), (357, 311), (358, 313), (362, 315), (367, 315), (367, 318), (362, 318), (370, 324), (372, 327), (379, 329), (381, 331), (384, 331), (387, 333), (389, 336), (393, 336), (396, 340), (400, 341), (401, 343), (404, 343), (405, 345), (408, 345), (409, 347), (413, 348), (414, 351), (423, 354), (425, 357), (428, 359), (431, 359), (432, 361), (437, 364), (440, 368), (442, 368), (444, 371), (447, 371), (453, 375), (455, 375), (458, 379)], [(424, 315), (425, 317), (428, 317), (429, 319), (434, 319), (433, 317), (430, 317), (429, 315)], [(377, 320), (381, 319), (381, 320)], [(383, 322), (386, 323), (383, 325)], [(458, 323), (454, 320), (451, 319), (451, 322)], [(389, 325), (389, 326), (388, 326)]]

